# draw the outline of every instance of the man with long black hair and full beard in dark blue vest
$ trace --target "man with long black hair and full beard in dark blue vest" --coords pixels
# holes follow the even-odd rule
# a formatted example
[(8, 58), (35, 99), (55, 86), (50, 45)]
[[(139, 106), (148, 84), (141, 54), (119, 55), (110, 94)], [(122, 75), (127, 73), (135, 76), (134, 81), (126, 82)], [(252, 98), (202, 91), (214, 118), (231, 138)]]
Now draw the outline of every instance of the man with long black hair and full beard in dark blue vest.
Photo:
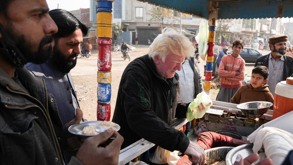
[[(47, 91), (54, 95), (59, 116), (65, 125), (74, 119), (76, 108), (80, 108), (70, 70), (76, 65), (82, 37), (87, 34), (88, 27), (62, 9), (51, 10), (49, 15), (58, 27), (58, 32), (52, 35), (54, 47), (51, 58), (43, 64), (28, 63), (25, 67), (45, 79)], [(67, 161), (75, 154), (76, 151), (65, 152)]]

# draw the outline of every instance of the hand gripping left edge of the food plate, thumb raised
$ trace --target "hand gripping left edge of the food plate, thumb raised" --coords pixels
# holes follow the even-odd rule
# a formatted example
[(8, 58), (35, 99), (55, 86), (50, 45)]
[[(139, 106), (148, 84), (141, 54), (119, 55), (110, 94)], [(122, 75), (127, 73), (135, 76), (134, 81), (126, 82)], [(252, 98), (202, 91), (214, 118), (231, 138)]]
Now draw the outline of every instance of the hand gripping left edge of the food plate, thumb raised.
[(83, 117), (83, 113), (82, 113), (81, 109), (76, 108), (76, 116), (74, 117), (73, 120), (71, 120), (68, 124), (65, 125), (67, 143), (68, 143), (69, 147), (71, 147), (72, 149), (79, 149), (81, 147), (81, 145), (83, 144), (83, 142), (85, 141), (85, 139), (81, 139), (81, 138), (71, 134), (68, 131), (68, 128), (73, 124), (79, 123), (82, 120), (82, 117)]

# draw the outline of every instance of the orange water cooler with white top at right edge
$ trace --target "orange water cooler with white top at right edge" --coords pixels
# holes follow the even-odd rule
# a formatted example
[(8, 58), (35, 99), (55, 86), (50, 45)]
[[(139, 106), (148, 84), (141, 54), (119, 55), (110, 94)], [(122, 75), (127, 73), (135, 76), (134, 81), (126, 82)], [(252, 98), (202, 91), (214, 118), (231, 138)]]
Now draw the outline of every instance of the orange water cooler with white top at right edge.
[(276, 85), (273, 118), (280, 117), (293, 110), (293, 77)]

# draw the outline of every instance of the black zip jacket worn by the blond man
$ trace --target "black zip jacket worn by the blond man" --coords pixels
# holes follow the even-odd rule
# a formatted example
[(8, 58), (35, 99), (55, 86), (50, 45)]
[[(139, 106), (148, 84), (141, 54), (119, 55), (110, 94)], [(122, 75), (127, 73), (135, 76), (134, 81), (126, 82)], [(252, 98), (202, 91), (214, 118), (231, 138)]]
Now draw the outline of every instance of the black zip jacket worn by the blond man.
[(185, 118), (188, 103), (179, 102), (177, 73), (163, 79), (148, 55), (136, 58), (124, 70), (120, 81), (113, 122), (124, 137), (122, 149), (146, 139), (169, 151), (187, 149), (189, 140), (171, 128), (175, 117)]

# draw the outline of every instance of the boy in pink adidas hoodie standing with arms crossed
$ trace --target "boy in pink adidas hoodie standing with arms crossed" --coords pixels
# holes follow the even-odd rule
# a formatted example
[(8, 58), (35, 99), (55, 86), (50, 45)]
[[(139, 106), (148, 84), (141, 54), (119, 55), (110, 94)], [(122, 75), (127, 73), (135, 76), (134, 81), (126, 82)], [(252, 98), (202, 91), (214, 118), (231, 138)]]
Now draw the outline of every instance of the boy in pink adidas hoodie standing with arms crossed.
[(222, 78), (217, 101), (230, 102), (244, 80), (245, 61), (239, 55), (243, 50), (243, 41), (235, 40), (232, 50), (231, 54), (223, 56), (219, 65), (218, 74)]

